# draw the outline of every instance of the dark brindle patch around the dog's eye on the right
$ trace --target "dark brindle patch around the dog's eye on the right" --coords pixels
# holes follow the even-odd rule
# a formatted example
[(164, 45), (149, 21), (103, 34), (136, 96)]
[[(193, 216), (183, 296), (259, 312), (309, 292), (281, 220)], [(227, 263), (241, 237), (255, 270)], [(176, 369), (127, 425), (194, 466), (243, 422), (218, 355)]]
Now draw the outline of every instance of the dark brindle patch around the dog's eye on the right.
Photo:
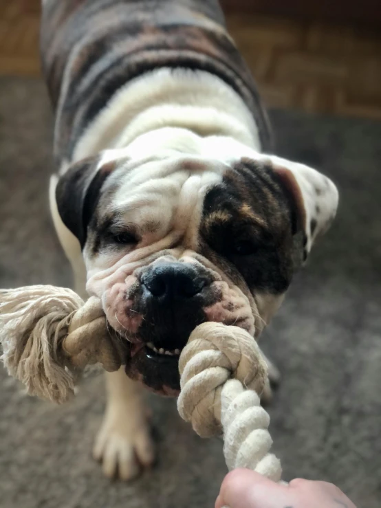
[(276, 173), (242, 159), (205, 197), (201, 253), (246, 291), (282, 294), (293, 273), (292, 222)]

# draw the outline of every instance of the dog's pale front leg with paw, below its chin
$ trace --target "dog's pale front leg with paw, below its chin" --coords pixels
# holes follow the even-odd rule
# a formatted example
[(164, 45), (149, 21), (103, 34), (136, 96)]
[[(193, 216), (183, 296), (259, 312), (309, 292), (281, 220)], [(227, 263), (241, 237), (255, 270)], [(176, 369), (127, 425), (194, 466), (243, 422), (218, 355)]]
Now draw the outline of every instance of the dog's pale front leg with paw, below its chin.
[(106, 476), (131, 480), (154, 460), (142, 388), (124, 373), (106, 373), (107, 407), (94, 444)]

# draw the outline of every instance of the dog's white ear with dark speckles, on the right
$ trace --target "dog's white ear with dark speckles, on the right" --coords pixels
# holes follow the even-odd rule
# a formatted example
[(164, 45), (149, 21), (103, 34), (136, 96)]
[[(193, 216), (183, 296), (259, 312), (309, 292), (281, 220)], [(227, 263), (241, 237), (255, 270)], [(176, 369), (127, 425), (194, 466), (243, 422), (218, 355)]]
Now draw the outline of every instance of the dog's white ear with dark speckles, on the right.
[(298, 228), (304, 233), (303, 260), (321, 234), (331, 225), (338, 208), (338, 190), (331, 179), (315, 169), (281, 157), (263, 155), (296, 207)]

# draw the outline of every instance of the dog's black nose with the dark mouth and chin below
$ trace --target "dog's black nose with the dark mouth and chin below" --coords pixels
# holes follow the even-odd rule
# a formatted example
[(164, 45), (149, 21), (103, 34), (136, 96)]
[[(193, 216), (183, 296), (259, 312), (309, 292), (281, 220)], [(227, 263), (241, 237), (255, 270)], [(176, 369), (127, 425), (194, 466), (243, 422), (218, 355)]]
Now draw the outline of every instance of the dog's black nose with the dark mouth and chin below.
[(127, 361), (127, 374), (159, 393), (179, 390), (178, 359), (190, 333), (206, 321), (213, 280), (192, 263), (151, 265), (140, 277), (138, 307), (144, 309), (140, 344)]

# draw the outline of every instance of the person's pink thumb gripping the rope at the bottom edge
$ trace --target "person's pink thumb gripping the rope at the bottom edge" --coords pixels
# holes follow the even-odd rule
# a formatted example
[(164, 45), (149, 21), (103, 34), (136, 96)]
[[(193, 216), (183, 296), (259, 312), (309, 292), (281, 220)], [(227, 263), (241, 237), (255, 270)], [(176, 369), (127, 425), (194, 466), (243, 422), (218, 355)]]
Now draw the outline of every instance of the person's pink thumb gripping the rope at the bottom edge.
[(279, 508), (290, 504), (292, 493), (254, 471), (237, 469), (227, 474), (222, 482), (215, 508)]

